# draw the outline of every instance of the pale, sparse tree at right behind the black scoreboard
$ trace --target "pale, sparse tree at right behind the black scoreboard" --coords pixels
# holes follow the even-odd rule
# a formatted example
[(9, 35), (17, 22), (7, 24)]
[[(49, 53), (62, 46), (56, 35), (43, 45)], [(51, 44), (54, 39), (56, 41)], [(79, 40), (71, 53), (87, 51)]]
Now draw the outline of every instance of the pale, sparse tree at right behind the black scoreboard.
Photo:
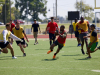
[(76, 2), (75, 8), (80, 12), (82, 11), (81, 15), (83, 15), (85, 19), (92, 20), (94, 18), (93, 8), (85, 4), (84, 1)]

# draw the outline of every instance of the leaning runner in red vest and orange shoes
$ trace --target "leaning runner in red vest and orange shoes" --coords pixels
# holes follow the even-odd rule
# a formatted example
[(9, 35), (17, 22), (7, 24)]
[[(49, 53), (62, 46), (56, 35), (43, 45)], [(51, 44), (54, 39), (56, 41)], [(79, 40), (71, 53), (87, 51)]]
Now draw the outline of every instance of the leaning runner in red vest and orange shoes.
[(53, 48), (58, 45), (58, 49), (57, 49), (56, 53), (54, 53), (53, 59), (55, 59), (56, 55), (59, 53), (59, 51), (62, 49), (62, 47), (65, 46), (67, 33), (65, 32), (64, 29), (65, 29), (65, 26), (61, 25), (60, 32), (55, 32), (55, 35), (58, 35), (58, 38), (50, 46), (50, 50), (47, 52), (47, 54), (51, 53), (53, 51)]

